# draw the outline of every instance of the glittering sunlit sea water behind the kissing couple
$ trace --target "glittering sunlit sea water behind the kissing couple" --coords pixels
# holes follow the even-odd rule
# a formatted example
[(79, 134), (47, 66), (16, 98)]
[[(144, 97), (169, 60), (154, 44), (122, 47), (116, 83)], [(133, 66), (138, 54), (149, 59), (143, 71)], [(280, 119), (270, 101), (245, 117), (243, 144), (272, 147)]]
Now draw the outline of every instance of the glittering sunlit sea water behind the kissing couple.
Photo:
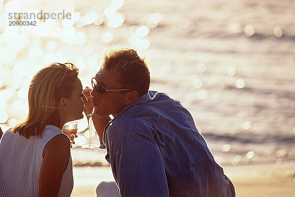
[[(6, 23), (7, 12), (16, 9), (13, 2), (18, 1), (0, 7)], [(294, 1), (76, 0), (64, 5), (40, 1), (22, 9), (65, 9), (75, 20), (0, 26), (3, 130), (26, 117), (29, 81), (40, 68), (74, 61), (82, 84), (90, 86), (106, 49), (131, 47), (149, 62), (150, 89), (168, 93), (188, 109), (219, 164), (295, 161)], [(86, 119), (78, 127), (74, 165), (107, 165), (105, 150), (80, 147), (89, 141)], [(93, 141), (99, 143), (94, 133)]]

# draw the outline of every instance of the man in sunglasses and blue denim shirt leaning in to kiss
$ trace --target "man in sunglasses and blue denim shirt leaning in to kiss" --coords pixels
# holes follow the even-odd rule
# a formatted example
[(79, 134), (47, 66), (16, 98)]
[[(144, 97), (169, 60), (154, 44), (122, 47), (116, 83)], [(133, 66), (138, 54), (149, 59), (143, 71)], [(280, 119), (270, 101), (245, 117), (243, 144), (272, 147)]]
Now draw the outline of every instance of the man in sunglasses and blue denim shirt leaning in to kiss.
[(132, 49), (107, 53), (92, 78), (93, 122), (121, 197), (234, 197), (191, 114), (149, 83)]

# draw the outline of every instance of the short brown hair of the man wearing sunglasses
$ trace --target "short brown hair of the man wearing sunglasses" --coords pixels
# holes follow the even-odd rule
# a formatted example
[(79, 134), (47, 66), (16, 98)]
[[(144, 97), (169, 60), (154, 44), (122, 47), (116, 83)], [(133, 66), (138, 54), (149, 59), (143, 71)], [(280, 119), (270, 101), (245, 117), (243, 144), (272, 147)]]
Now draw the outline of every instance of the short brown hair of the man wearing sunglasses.
[(107, 51), (101, 66), (101, 71), (121, 73), (121, 88), (138, 91), (138, 97), (148, 92), (150, 77), (145, 58), (138, 56), (133, 49), (114, 49)]

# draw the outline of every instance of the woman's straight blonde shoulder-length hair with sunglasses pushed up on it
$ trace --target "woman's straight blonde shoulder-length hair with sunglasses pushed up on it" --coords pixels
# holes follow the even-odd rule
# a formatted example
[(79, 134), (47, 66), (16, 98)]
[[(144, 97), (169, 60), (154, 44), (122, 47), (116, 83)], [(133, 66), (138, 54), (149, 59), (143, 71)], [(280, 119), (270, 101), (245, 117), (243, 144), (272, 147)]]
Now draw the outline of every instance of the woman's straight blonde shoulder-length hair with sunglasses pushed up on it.
[(41, 137), (48, 124), (59, 126), (59, 100), (71, 96), (78, 74), (78, 68), (72, 63), (52, 63), (39, 70), (29, 84), (28, 116), (11, 132), (29, 139)]

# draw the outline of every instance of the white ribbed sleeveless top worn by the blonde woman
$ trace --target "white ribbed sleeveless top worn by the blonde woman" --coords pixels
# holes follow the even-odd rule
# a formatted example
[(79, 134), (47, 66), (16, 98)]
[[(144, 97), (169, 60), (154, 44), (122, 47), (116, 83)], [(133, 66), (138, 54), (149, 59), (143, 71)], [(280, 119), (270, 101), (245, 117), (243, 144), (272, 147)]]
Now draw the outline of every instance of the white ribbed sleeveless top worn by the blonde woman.
[[(61, 130), (53, 125), (45, 127), (42, 138), (34, 136), (26, 139), (18, 134), (14, 135), (10, 130), (3, 134), (0, 140), (0, 197), (38, 196), (43, 149), (58, 134), (62, 134)], [(70, 154), (62, 176), (59, 197), (70, 197), (73, 184)]]

